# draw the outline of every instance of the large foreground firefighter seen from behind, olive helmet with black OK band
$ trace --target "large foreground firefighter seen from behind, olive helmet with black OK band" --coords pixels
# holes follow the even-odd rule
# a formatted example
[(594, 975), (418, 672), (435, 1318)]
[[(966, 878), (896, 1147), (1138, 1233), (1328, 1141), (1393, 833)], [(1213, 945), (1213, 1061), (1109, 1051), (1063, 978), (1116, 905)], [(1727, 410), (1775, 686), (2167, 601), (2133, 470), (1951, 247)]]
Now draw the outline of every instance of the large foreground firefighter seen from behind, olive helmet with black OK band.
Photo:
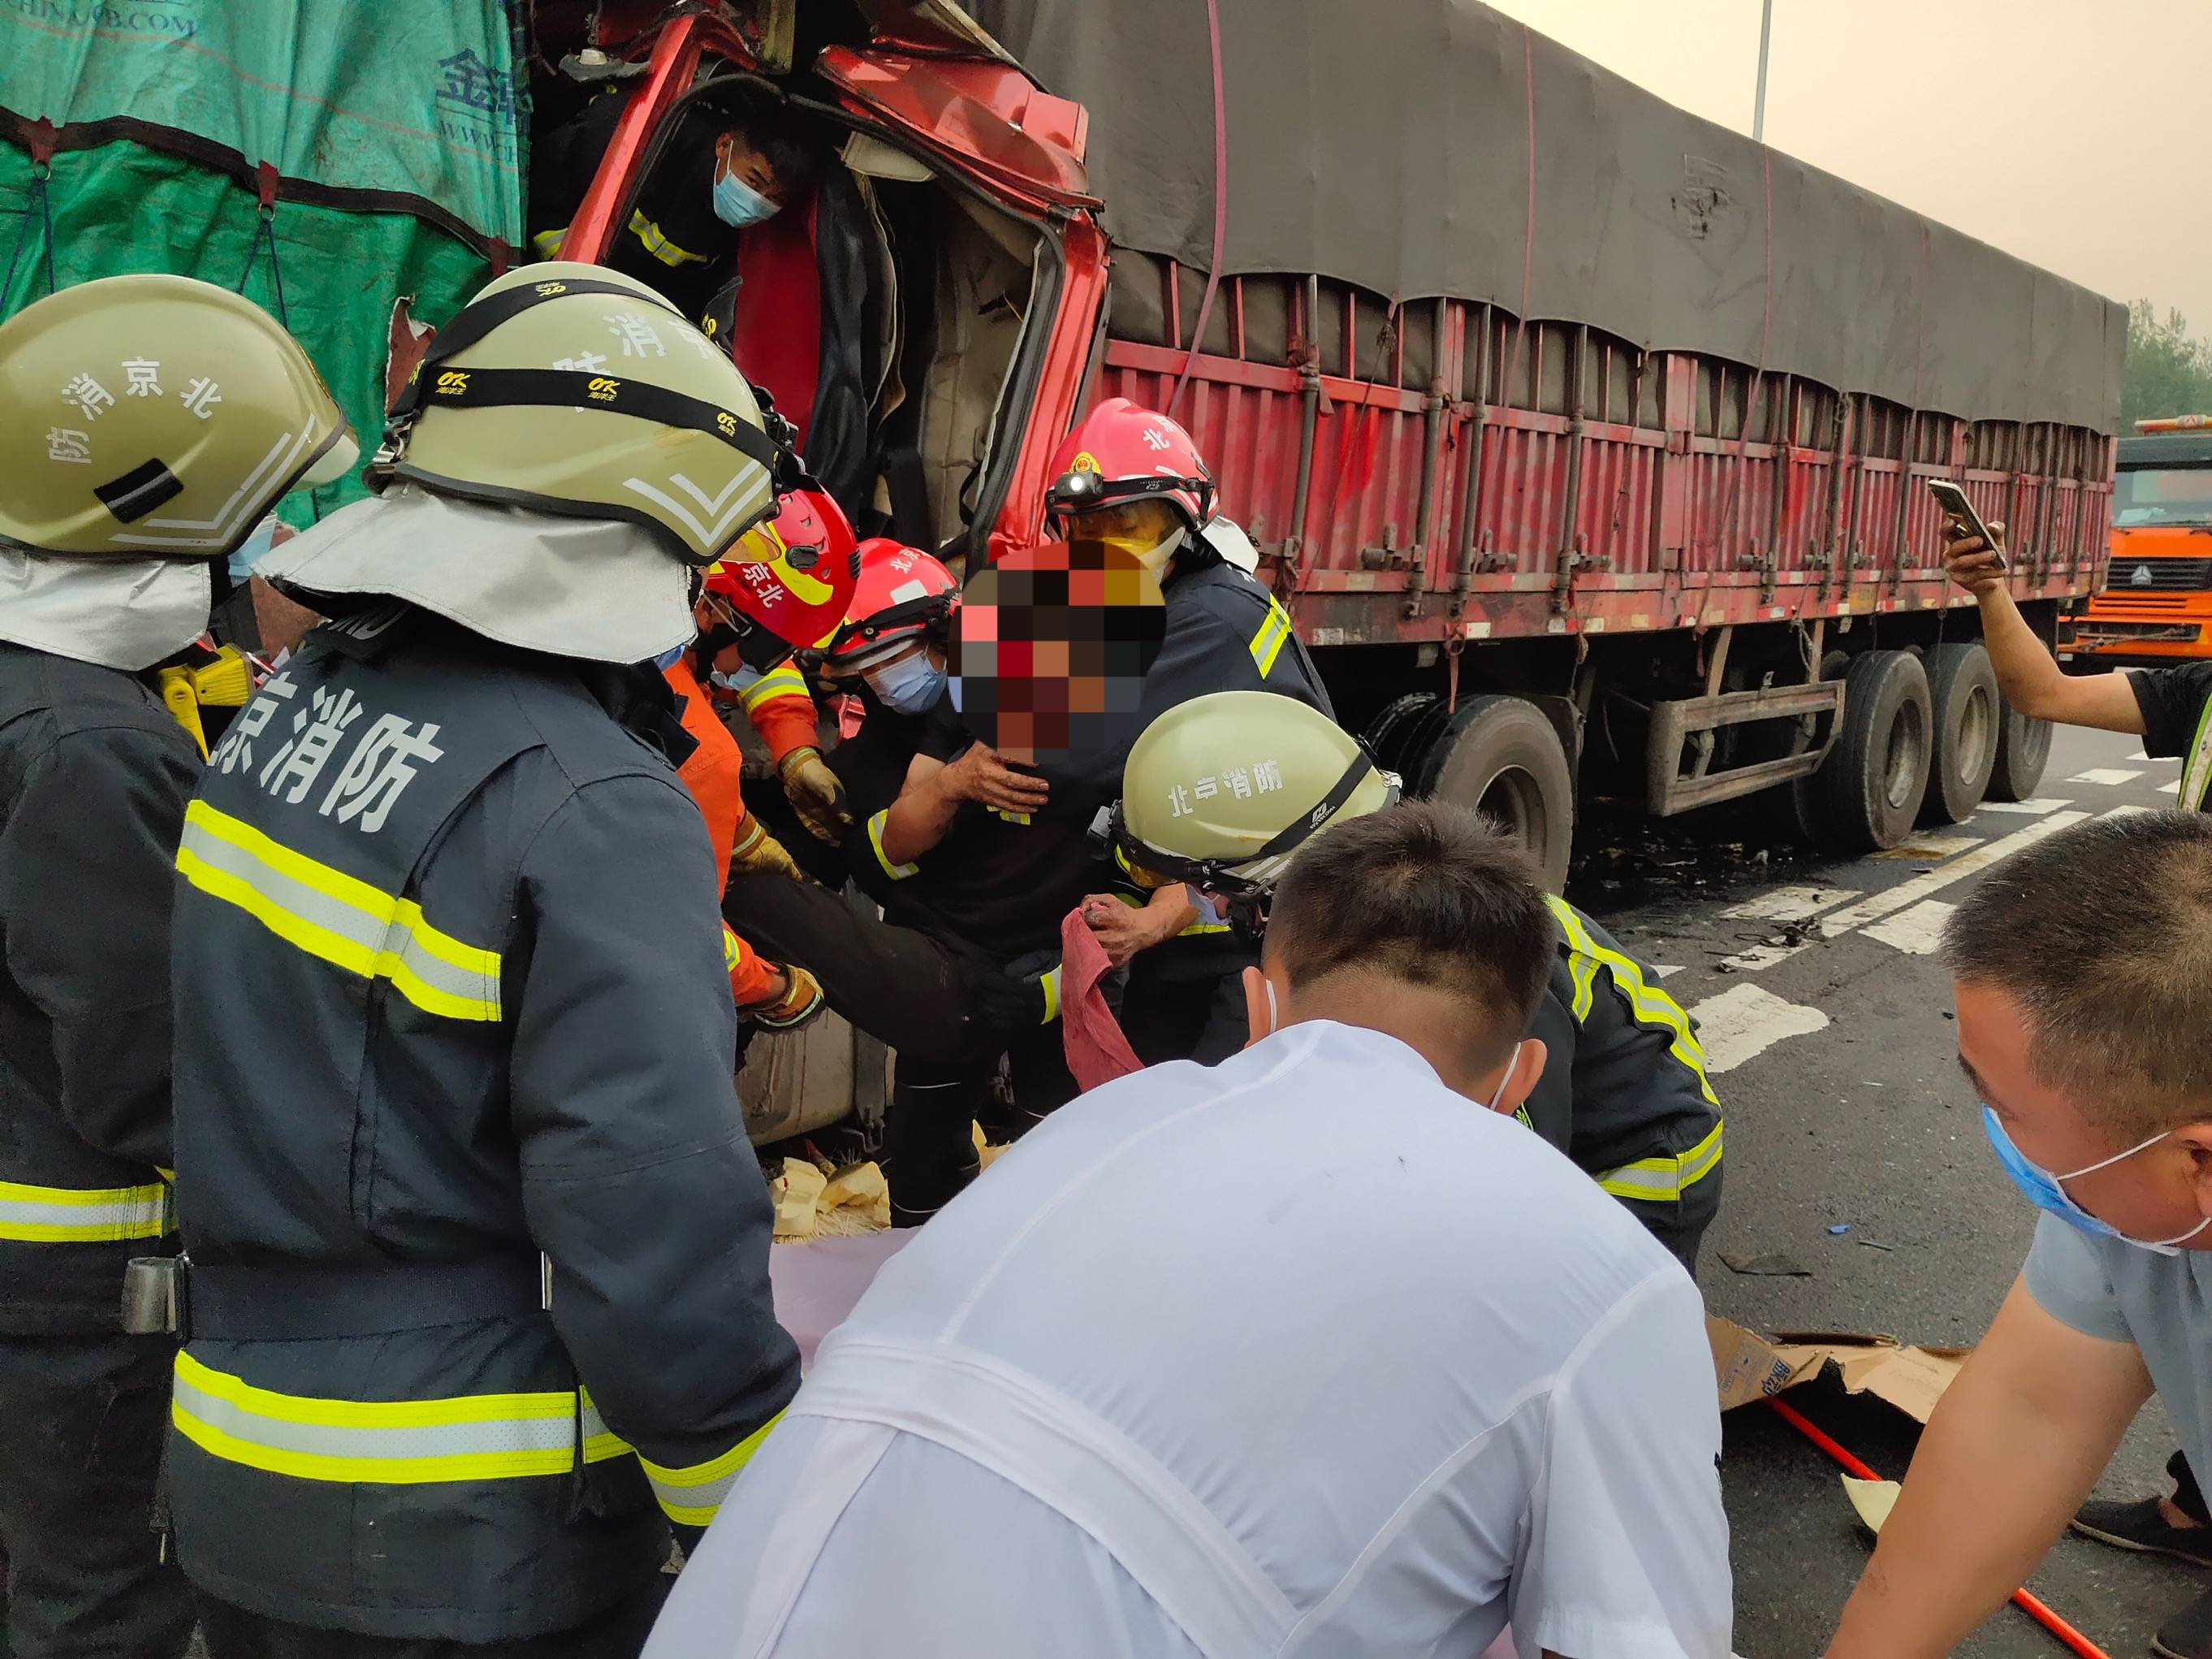
[[(630, 374), (557, 367), (584, 341)], [(177, 852), (170, 1489), (217, 1659), (635, 1652), (670, 1522), (799, 1385), (690, 741), (635, 666), (772, 462), (650, 290), (531, 265), (438, 334), (378, 498), (259, 566), (330, 622)]]

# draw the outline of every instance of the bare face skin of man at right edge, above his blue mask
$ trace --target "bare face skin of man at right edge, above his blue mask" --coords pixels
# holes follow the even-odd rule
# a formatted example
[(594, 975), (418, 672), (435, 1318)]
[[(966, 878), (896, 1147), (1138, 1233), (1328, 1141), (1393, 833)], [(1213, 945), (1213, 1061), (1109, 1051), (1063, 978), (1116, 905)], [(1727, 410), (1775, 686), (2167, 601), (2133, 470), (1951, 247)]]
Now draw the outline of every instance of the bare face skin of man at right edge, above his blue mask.
[[(2081, 1102), (2028, 1068), (2028, 1024), (2020, 1004), (1989, 984), (1960, 980), (1958, 1060), (2006, 1137), (2053, 1177), (2088, 1170), (2143, 1137), (2095, 1126)], [(2068, 1199), (2130, 1239), (2177, 1239), (2212, 1214), (2212, 1121), (2188, 1124), (2101, 1170), (2062, 1183)], [(2212, 1228), (2185, 1248), (2212, 1248)]]

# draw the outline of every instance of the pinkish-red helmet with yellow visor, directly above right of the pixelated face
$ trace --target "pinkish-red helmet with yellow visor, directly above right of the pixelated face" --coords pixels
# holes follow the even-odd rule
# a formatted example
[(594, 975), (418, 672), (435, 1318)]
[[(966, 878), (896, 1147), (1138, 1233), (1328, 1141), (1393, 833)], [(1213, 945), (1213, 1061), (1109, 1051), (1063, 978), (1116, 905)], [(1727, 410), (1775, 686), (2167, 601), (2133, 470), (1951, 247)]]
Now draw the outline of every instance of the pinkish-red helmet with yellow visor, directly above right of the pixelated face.
[(1175, 420), (1128, 398), (1086, 414), (1053, 458), (1046, 524), (1071, 542), (1106, 542), (1159, 575), (1214, 513), (1214, 476)]

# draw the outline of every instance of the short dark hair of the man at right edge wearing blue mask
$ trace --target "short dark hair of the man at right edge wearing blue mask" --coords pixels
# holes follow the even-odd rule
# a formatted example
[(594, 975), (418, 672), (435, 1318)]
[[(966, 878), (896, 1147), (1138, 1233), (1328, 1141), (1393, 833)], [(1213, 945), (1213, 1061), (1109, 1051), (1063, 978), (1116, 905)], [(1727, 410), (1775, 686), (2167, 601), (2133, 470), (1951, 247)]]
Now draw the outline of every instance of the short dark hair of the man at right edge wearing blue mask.
[(2146, 1137), (2212, 1117), (2212, 818), (2130, 812), (2057, 830), (1944, 925), (1962, 982), (2004, 991), (2028, 1068)]

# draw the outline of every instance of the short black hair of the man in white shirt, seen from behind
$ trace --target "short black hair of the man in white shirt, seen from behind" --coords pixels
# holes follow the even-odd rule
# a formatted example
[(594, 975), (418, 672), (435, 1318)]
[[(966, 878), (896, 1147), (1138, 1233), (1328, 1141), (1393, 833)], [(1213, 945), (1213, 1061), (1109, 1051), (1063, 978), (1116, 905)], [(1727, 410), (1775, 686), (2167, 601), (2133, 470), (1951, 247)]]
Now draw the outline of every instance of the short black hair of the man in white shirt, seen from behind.
[(1318, 834), (1267, 914), (1267, 960), (1292, 991), (1347, 969), (1451, 991), (1480, 1011), (1469, 1035), (1484, 1064), (1528, 1033), (1557, 947), (1528, 854), (1438, 801), (1400, 801)]

